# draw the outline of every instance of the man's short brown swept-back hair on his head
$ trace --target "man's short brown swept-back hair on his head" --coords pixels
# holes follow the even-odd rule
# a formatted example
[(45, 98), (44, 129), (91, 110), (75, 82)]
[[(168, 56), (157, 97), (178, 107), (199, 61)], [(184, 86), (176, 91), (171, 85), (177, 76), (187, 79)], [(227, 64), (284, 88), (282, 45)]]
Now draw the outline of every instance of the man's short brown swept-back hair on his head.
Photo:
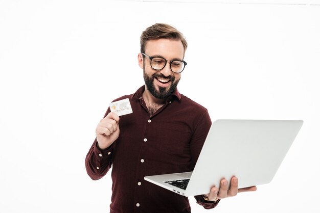
[(184, 45), (184, 50), (186, 52), (188, 43), (184, 35), (173, 26), (165, 23), (153, 24), (152, 26), (149, 26), (144, 32), (142, 32), (140, 37), (140, 51), (145, 52), (147, 41), (161, 38), (173, 39), (176, 41), (180, 40), (182, 42), (182, 45)]

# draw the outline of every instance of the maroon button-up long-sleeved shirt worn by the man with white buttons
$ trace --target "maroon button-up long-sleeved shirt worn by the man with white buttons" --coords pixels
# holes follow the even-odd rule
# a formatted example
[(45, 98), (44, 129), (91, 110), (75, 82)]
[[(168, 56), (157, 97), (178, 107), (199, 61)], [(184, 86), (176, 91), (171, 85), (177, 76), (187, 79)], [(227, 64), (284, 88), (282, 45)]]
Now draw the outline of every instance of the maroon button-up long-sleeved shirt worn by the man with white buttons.
[[(97, 180), (112, 166), (111, 213), (191, 212), (187, 197), (144, 177), (193, 171), (212, 123), (209, 113), (176, 89), (150, 116), (142, 98), (144, 89), (116, 99), (129, 98), (133, 113), (120, 117), (120, 136), (106, 150), (94, 141), (85, 158), (87, 173)], [(208, 209), (219, 202), (205, 201), (201, 195), (195, 199)]]

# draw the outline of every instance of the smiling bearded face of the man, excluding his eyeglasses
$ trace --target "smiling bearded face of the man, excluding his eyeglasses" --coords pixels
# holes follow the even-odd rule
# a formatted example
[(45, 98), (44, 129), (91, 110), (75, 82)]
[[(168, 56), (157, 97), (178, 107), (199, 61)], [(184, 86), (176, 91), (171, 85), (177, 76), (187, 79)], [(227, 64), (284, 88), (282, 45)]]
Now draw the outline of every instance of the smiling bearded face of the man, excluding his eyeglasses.
[[(162, 57), (166, 60), (182, 60), (184, 46), (181, 41), (172, 39), (149, 40), (146, 43), (145, 54), (151, 57)], [(156, 98), (168, 98), (180, 81), (181, 73), (174, 73), (167, 62), (162, 70), (154, 70), (150, 66), (148, 57), (138, 56), (139, 65), (143, 68), (144, 79), (148, 91)]]

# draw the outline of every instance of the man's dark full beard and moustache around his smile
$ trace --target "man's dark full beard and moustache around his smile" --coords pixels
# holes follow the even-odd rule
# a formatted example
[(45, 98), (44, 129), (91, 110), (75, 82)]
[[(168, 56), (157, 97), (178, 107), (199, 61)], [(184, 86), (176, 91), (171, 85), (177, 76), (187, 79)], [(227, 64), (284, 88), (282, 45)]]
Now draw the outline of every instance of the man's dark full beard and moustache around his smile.
[[(153, 84), (155, 77), (170, 79), (171, 85), (169, 86), (169, 90), (166, 91), (166, 87), (159, 87), (159, 91), (157, 91), (156, 88), (154, 87), (154, 84)], [(146, 83), (146, 86), (147, 86), (147, 89), (149, 90), (149, 92), (154, 97), (159, 98), (159, 99), (167, 99), (173, 93), (173, 91), (175, 90), (175, 88), (177, 87), (177, 85), (180, 81), (180, 79), (178, 79), (176, 82), (174, 82), (175, 77), (173, 75), (166, 77), (161, 73), (154, 73), (151, 77), (149, 77), (146, 74), (145, 69), (143, 69), (143, 78), (145, 79), (145, 83)], [(157, 79), (155, 79), (155, 81), (157, 81)]]

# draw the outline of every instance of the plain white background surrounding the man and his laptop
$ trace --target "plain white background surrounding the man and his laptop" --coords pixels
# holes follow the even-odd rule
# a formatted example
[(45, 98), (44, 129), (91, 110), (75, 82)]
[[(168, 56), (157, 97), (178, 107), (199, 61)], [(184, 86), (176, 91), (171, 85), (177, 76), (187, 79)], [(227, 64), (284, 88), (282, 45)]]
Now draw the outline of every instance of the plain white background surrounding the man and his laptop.
[[(0, 1), (0, 212), (108, 212), (84, 158), (108, 103), (144, 84), (147, 26), (189, 47), (179, 91), (212, 120), (302, 119), (275, 178), (193, 212), (319, 212), (320, 6)], [(212, 164), (223, 164), (213, 159)]]

